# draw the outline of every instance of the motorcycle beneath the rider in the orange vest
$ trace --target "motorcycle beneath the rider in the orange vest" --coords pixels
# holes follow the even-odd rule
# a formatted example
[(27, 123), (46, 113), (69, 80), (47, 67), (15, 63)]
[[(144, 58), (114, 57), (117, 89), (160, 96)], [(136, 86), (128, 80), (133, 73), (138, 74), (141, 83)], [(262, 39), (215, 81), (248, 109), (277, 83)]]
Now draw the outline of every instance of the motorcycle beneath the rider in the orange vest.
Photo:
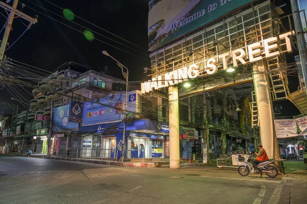
[[(250, 163), (252, 160), (252, 156), (248, 155), (244, 162), (241, 163), (238, 167), (238, 173), (242, 176), (247, 176), (251, 170), (253, 170), (253, 165)], [(257, 165), (257, 168), (259, 170), (258, 173), (261, 173), (260, 177), (262, 177), (262, 173), (266, 173), (267, 176), (271, 178), (275, 178), (278, 175), (278, 170), (275, 166), (270, 166), (270, 164), (273, 164), (275, 162), (274, 159), (266, 160), (264, 162), (261, 162)]]

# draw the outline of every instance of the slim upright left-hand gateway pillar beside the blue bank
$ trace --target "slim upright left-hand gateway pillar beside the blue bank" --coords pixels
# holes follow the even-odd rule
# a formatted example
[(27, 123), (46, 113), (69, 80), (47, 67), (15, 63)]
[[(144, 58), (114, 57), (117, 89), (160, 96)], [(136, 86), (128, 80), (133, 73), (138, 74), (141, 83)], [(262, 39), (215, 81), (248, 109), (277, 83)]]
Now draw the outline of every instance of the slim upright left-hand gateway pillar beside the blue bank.
[(178, 87), (168, 87), (169, 102), (169, 167), (180, 168)]

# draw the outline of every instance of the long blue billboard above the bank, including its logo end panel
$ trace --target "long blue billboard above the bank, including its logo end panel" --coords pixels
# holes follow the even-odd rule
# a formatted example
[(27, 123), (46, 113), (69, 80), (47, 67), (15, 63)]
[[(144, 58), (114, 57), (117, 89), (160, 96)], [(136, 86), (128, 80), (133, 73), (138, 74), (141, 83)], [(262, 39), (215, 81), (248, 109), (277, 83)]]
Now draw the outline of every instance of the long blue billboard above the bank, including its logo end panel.
[[(124, 104), (126, 94), (112, 94), (105, 98), (100, 98), (98, 103), (86, 102), (83, 106), (82, 125), (114, 122), (124, 119)], [(128, 92), (127, 111), (136, 112), (137, 93)]]

